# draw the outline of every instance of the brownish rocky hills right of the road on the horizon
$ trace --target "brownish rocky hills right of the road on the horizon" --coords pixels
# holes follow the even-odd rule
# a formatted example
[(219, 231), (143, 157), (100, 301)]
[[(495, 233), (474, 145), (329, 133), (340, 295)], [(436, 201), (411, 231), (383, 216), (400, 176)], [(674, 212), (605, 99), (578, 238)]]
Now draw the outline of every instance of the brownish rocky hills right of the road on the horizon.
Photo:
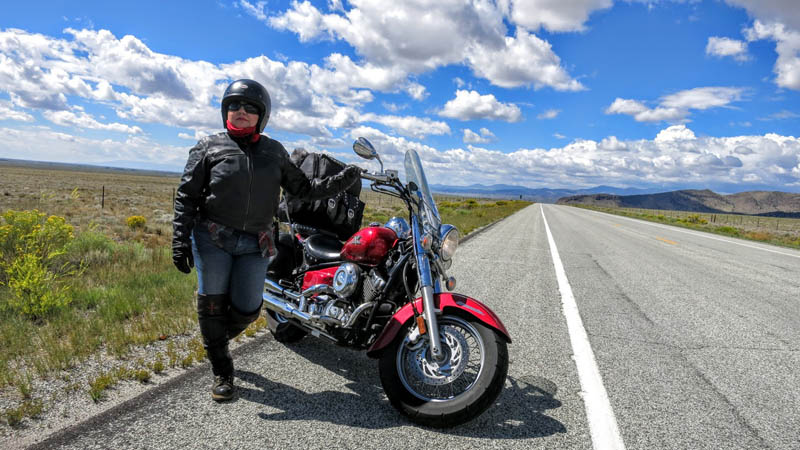
[(557, 203), (564, 205), (587, 204), (617, 208), (800, 217), (800, 194), (777, 191), (749, 191), (729, 195), (720, 195), (708, 189), (641, 195), (584, 194), (560, 198)]

